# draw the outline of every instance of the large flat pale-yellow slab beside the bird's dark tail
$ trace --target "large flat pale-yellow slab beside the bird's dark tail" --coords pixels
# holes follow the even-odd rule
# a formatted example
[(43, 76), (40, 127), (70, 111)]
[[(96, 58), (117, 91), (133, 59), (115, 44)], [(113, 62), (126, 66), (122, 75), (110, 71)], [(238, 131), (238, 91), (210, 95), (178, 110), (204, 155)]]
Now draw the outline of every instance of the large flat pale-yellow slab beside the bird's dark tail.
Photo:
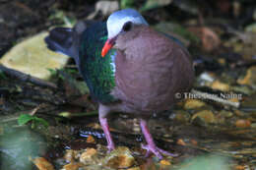
[(43, 41), (46, 35), (46, 32), (42, 32), (22, 41), (1, 58), (0, 64), (48, 80), (51, 76), (48, 69), (62, 68), (68, 57), (48, 50)]

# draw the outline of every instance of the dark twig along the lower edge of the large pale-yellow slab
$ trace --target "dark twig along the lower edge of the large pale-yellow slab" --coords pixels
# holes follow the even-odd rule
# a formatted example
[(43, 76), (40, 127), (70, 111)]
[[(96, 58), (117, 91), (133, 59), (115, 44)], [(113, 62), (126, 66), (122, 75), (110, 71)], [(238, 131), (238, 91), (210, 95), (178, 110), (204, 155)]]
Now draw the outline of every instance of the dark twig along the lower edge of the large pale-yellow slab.
[(38, 78), (34, 78), (31, 75), (28, 74), (24, 74), (20, 71), (14, 70), (14, 69), (10, 69), (7, 68), (3, 65), (0, 64), (0, 70), (3, 71), (5, 74), (11, 76), (11, 77), (15, 77), (23, 82), (29, 82), (32, 83), (34, 85), (39, 85), (39, 86), (46, 86), (46, 87), (51, 87), (51, 88), (57, 88), (57, 85), (52, 84), (50, 82), (46, 82), (43, 80), (40, 80)]

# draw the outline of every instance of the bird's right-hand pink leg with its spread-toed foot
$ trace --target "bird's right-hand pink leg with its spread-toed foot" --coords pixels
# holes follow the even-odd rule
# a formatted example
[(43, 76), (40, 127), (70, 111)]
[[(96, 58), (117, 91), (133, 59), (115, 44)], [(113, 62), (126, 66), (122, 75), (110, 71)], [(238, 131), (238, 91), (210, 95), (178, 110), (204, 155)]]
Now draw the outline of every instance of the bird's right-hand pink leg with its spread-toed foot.
[(148, 143), (147, 145), (144, 145), (144, 144), (142, 145), (142, 148), (147, 149), (146, 157), (150, 156), (150, 154), (152, 154), (152, 153), (154, 153), (160, 159), (162, 159), (161, 154), (166, 154), (169, 156), (177, 156), (177, 154), (169, 153), (165, 150), (160, 149), (156, 145), (156, 143), (154, 142), (152, 135), (148, 129), (147, 122), (144, 119), (141, 119), (140, 125), (141, 125), (141, 129), (142, 129), (142, 133), (145, 137), (145, 140)]

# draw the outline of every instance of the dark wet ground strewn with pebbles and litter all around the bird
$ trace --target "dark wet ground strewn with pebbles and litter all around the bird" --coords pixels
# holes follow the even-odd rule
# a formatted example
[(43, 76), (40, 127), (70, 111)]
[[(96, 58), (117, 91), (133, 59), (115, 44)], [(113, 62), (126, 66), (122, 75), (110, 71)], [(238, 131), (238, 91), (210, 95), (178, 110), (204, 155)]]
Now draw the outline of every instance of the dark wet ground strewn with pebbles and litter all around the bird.
[[(70, 21), (85, 20), (96, 4), (0, 3), (0, 57), (24, 38), (62, 25), (60, 12)], [(156, 28), (174, 32), (194, 58), (197, 78), (191, 93), (149, 119), (157, 144), (177, 157), (145, 158), (138, 119), (122, 113), (109, 119), (113, 140), (121, 147), (107, 153), (97, 105), (88, 90), (78, 87), (83, 80), (70, 61), (50, 81), (0, 66), (0, 169), (255, 169), (256, 8), (251, 1), (238, 5), (238, 14), (231, 12), (235, 4), (228, 0), (173, 2), (143, 13)], [(94, 16), (105, 18), (102, 13)], [(176, 32), (172, 20), (189, 33)], [(31, 117), (21, 120), (22, 114)]]

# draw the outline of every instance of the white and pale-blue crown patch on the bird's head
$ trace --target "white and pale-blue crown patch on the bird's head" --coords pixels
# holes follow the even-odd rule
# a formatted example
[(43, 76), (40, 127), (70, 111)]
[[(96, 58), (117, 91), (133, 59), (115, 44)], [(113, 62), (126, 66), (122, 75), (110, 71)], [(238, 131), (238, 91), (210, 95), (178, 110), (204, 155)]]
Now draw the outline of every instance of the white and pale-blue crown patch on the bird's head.
[(149, 26), (146, 20), (136, 10), (120, 10), (111, 14), (106, 21), (108, 39), (116, 36), (127, 22), (132, 22), (135, 25)]

